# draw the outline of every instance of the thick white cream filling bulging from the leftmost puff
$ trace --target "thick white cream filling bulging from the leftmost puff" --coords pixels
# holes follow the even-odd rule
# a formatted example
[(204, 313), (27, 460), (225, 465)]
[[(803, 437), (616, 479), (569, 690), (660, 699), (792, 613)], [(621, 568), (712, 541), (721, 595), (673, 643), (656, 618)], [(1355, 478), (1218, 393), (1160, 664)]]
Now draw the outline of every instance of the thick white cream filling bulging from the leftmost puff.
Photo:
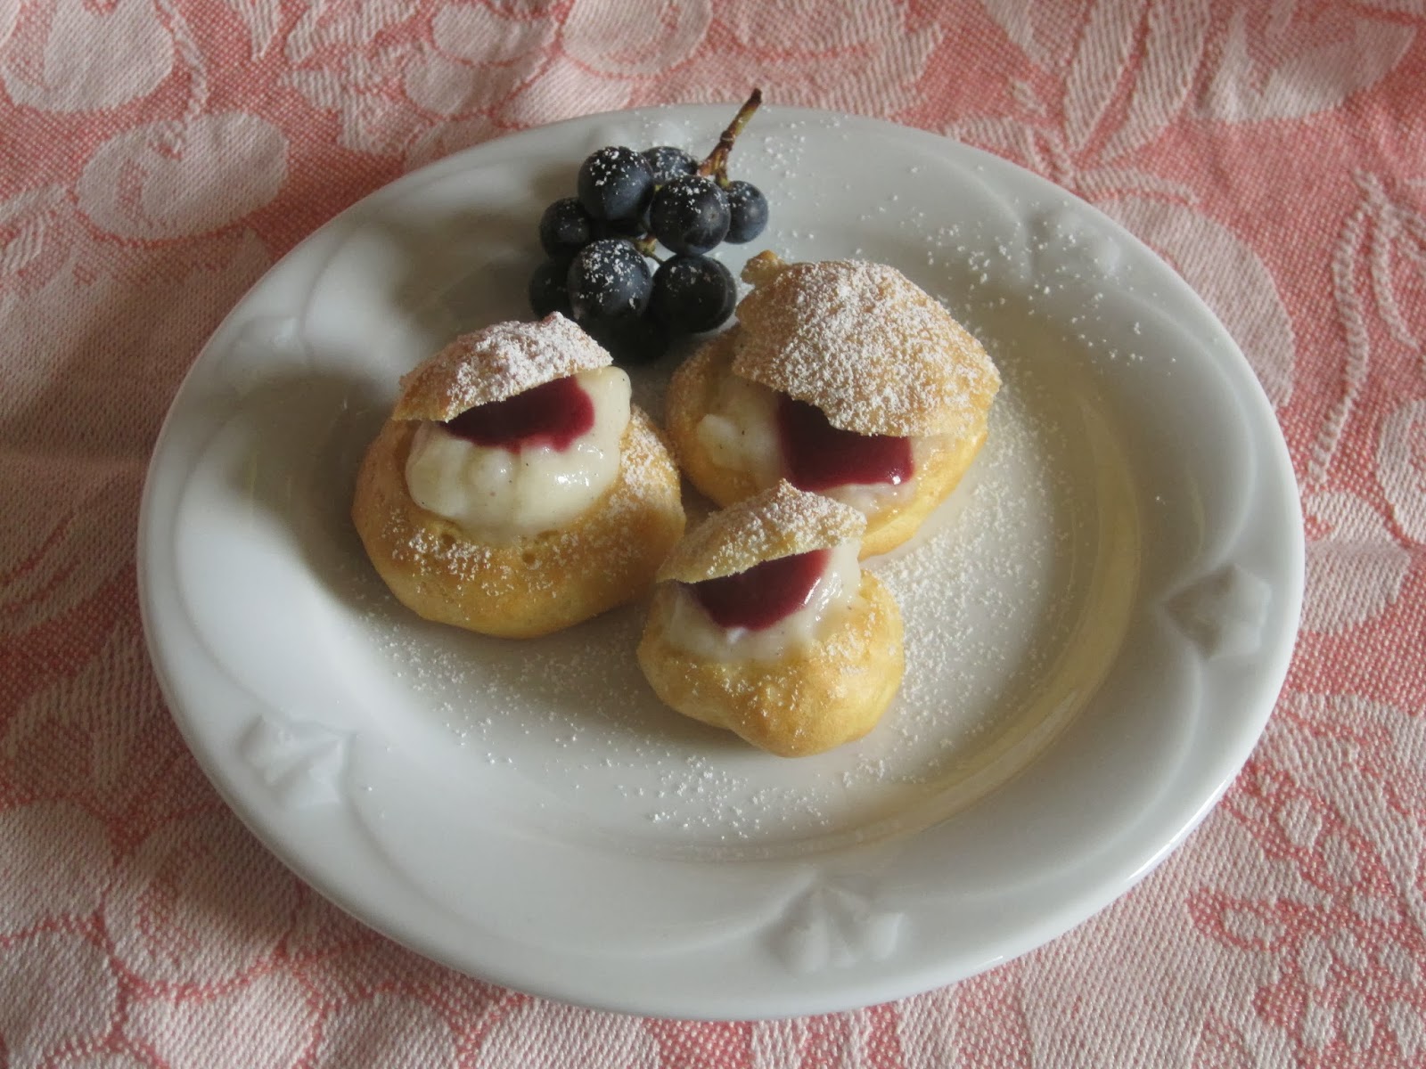
[(509, 543), (558, 530), (593, 506), (619, 477), (619, 443), (629, 426), (629, 376), (596, 368), (575, 376), (595, 423), (565, 449), (518, 452), (479, 446), (442, 423), (416, 428), (406, 489), (422, 509), (481, 542)]

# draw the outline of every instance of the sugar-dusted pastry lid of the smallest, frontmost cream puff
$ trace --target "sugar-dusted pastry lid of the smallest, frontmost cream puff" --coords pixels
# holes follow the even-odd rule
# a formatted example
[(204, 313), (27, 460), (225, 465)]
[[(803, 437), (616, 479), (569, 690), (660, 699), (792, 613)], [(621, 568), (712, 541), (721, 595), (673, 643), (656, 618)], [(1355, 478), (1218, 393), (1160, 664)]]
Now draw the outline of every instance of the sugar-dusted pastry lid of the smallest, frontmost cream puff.
[(764, 560), (860, 539), (866, 526), (866, 516), (851, 506), (783, 480), (710, 515), (673, 547), (657, 577), (680, 583), (720, 579)]

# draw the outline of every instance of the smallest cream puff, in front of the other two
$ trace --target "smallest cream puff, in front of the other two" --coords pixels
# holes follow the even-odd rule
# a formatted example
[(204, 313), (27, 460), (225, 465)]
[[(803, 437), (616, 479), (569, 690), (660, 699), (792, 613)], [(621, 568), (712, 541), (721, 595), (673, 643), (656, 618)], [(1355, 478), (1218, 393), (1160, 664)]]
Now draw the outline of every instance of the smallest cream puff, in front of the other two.
[(780, 757), (866, 735), (901, 684), (901, 613), (857, 563), (866, 517), (783, 480), (659, 569), (639, 666), (679, 713)]

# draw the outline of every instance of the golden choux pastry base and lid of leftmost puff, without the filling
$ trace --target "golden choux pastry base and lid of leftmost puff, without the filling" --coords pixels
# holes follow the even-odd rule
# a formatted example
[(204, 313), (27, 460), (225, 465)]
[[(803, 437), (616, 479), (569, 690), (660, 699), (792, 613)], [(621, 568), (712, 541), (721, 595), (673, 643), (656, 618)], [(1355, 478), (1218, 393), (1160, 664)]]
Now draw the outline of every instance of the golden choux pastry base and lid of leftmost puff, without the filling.
[(647, 592), (684, 517), (677, 468), (637, 406), (619, 436), (612, 483), (555, 529), (471, 530), (418, 505), (408, 483), (422, 425), (446, 425), (476, 406), (609, 365), (603, 348), (556, 314), (463, 335), (402, 378), (352, 502), (366, 554), (402, 604), (428, 620), (523, 639)]

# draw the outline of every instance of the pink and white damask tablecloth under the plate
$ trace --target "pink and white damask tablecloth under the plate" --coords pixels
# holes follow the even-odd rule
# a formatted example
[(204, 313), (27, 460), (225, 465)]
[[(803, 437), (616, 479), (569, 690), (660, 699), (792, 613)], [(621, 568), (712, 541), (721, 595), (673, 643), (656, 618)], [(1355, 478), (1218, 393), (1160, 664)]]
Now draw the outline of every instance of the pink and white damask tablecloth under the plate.
[[(1164, 254), (1276, 408), (1306, 607), (1225, 801), (1079, 929), (851, 1013), (642, 1021), (425, 962), (267, 855), (160, 698), (133, 532), (204, 338), (324, 220), (752, 84), (990, 148)], [(1426, 3), (0, 0), (0, 1063), (1426, 1065)]]

